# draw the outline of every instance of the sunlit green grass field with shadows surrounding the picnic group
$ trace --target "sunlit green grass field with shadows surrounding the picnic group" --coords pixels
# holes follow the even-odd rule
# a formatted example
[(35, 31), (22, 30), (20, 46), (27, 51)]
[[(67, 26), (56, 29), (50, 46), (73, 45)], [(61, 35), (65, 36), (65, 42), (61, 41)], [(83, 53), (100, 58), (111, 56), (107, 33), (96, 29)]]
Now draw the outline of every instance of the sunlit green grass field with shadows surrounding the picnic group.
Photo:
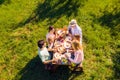
[[(83, 31), (84, 73), (50, 74), (37, 56), (47, 28), (76, 19)], [(119, 0), (0, 0), (0, 80), (119, 80)]]

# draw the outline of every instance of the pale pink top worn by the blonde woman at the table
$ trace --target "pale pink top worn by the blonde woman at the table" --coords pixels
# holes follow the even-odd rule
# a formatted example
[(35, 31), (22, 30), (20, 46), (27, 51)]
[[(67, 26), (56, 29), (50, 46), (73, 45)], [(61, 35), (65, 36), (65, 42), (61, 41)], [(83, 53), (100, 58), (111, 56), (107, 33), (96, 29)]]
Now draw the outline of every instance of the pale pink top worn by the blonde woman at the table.
[(82, 51), (82, 50), (77, 50), (77, 51), (75, 51), (75, 52), (74, 52), (74, 56), (75, 56), (74, 59), (72, 59), (71, 57), (69, 57), (68, 59), (69, 59), (71, 62), (76, 63), (76, 64), (82, 62), (83, 59), (84, 59), (84, 54), (83, 54), (83, 51)]

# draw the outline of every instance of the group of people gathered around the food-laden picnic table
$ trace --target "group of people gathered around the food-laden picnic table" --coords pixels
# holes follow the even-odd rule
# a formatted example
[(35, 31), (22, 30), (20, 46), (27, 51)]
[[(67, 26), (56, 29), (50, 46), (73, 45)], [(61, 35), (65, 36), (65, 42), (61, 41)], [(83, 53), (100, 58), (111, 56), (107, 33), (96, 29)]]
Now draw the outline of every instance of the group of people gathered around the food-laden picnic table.
[(55, 65), (82, 69), (82, 30), (77, 21), (72, 19), (69, 26), (63, 28), (49, 26), (46, 40), (38, 41), (38, 55), (47, 70), (55, 68)]

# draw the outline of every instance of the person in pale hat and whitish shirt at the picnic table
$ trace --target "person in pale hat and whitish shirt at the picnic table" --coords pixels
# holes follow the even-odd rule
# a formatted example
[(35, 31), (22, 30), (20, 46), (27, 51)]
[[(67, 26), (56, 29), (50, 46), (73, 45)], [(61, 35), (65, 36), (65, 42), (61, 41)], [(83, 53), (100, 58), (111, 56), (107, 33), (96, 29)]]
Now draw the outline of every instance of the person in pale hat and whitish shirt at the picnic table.
[(82, 44), (82, 30), (78, 26), (77, 21), (75, 19), (72, 19), (70, 21), (69, 26), (68, 26), (68, 31), (70, 34), (72, 34), (73, 37), (74, 37), (74, 35), (79, 35), (80, 36), (80, 44)]

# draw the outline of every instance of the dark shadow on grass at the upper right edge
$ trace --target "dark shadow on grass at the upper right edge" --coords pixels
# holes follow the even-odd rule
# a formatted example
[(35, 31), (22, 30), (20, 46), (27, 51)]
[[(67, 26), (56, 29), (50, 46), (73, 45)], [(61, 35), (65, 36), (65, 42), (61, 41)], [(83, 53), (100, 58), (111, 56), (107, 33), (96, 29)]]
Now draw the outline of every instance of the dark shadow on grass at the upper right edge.
[(120, 31), (120, 12), (115, 14), (104, 12), (104, 15), (99, 18), (99, 22), (102, 26), (111, 28), (111, 36), (116, 36)]

